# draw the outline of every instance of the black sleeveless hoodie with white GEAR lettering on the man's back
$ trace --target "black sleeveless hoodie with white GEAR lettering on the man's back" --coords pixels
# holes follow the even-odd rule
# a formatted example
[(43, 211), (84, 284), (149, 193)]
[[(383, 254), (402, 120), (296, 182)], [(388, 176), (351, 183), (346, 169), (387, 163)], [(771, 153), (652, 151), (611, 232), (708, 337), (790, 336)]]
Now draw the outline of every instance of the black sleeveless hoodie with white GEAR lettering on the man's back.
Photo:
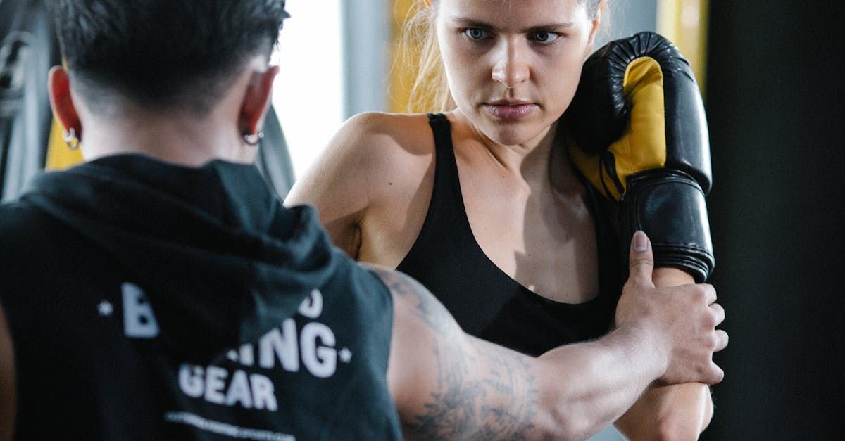
[(254, 166), (118, 155), (0, 207), (18, 439), (392, 439), (390, 293)]

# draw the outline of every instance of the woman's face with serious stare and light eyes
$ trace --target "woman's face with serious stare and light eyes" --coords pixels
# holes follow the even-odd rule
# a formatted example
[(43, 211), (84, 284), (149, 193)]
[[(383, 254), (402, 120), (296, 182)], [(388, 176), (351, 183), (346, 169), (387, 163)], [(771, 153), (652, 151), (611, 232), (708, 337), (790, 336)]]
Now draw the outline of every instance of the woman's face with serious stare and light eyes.
[(498, 144), (532, 142), (570, 105), (597, 20), (577, 0), (439, 0), (437, 36), (458, 108)]

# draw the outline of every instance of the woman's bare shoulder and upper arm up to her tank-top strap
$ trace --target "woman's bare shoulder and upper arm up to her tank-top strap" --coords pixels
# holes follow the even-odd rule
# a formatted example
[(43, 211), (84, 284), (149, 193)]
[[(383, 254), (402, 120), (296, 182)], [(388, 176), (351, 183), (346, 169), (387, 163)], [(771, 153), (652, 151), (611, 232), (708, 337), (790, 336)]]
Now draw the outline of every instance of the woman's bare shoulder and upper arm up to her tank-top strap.
[(433, 149), (425, 115), (362, 113), (344, 123), (285, 204), (314, 205), (353, 259), (394, 266), (416, 237), (413, 221), (424, 219)]

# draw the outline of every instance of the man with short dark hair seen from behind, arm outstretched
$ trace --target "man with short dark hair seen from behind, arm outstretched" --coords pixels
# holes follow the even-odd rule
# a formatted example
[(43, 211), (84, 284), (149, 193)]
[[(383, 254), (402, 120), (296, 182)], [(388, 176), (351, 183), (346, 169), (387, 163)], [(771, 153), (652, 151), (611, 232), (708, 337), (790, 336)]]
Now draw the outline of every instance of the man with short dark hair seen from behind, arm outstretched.
[(604, 338), (525, 357), (330, 246), (250, 165), (281, 0), (57, 0), (53, 110), (86, 163), (0, 207), (0, 438), (584, 438), (714, 384), (710, 286), (635, 235)]

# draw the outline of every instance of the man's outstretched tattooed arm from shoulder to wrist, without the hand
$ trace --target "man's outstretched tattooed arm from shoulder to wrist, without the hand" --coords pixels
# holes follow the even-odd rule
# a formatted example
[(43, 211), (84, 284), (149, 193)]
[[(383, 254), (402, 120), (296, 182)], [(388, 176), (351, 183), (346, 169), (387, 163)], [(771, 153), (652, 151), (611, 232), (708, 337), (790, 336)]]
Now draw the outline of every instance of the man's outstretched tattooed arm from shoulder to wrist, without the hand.
[(662, 373), (630, 329), (526, 357), (466, 335), (410, 277), (379, 275), (394, 297), (388, 378), (410, 438), (584, 438)]

